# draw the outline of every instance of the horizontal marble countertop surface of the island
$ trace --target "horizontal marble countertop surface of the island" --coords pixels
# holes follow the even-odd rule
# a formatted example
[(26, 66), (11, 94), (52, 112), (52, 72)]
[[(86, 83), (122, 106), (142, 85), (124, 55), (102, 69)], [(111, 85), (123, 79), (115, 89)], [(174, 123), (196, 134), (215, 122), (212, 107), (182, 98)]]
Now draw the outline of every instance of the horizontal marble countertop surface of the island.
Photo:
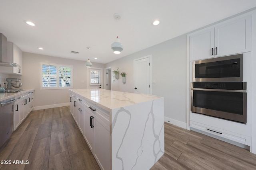
[(106, 111), (162, 98), (148, 94), (135, 94), (105, 89), (70, 89), (70, 92), (80, 95), (85, 100)]

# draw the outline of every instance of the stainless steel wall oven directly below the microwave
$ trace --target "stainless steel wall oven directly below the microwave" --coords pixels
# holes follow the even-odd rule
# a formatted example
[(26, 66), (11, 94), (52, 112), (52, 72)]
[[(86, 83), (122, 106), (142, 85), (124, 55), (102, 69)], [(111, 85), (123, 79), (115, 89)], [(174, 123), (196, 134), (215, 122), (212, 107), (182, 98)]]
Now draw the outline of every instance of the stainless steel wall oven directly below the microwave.
[(193, 82), (191, 111), (246, 124), (246, 82)]

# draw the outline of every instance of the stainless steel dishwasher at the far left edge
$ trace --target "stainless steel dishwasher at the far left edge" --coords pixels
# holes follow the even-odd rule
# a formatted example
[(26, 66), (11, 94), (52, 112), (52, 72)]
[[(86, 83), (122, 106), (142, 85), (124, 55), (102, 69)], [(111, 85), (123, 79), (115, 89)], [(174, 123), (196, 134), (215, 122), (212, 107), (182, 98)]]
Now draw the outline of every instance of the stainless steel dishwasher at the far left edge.
[(0, 147), (12, 135), (15, 99), (0, 102)]

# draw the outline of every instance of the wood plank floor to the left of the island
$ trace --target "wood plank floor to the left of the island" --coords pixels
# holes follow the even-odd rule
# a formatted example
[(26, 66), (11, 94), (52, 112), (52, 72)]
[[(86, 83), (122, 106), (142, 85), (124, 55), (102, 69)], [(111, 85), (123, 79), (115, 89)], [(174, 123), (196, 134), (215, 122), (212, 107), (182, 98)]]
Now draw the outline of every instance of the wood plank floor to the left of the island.
[(0, 170), (100, 170), (68, 106), (32, 111), (0, 148), (0, 160), (12, 161)]

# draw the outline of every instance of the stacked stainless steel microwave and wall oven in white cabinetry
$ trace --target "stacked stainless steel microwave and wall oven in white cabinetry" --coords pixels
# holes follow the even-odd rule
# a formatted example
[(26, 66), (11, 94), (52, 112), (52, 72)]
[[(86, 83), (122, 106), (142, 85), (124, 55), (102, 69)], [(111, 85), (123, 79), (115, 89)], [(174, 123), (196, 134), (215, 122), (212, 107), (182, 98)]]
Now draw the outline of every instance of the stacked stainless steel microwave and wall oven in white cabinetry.
[(243, 54), (193, 62), (191, 111), (246, 124)]

